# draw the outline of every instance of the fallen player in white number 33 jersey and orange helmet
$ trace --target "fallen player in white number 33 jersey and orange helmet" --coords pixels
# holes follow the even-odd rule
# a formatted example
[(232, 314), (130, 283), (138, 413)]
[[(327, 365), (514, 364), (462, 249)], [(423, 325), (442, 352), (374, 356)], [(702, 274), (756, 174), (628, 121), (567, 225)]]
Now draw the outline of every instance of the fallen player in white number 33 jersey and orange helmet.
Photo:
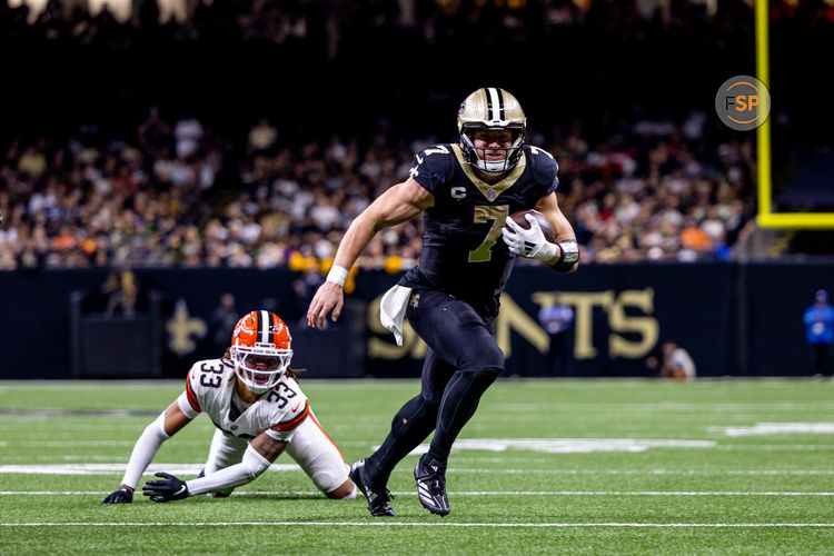
[(142, 487), (151, 500), (180, 500), (203, 493), (228, 496), (264, 473), (285, 450), (328, 498), (355, 498), (345, 459), (316, 420), (289, 369), (291, 341), (277, 315), (265, 310), (245, 315), (226, 355), (197, 361), (186, 378), (186, 390), (146, 427), (121, 486), (102, 503), (132, 502), (139, 478), (162, 443), (200, 413), (208, 414), (217, 427), (206, 467), (191, 480), (157, 473), (159, 479)]

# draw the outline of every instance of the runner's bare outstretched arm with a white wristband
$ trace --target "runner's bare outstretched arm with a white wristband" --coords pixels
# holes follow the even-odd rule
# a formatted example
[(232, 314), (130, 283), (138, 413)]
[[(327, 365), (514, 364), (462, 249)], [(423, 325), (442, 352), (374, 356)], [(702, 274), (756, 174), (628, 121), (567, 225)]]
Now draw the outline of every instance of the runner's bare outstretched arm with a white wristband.
[(325, 318), (331, 310), (332, 320), (339, 318), (347, 272), (379, 230), (410, 220), (434, 203), (435, 197), (414, 178), (408, 178), (385, 191), (363, 210), (345, 232), (336, 251), (332, 270), (307, 309), (307, 325), (312, 328), (324, 327)]

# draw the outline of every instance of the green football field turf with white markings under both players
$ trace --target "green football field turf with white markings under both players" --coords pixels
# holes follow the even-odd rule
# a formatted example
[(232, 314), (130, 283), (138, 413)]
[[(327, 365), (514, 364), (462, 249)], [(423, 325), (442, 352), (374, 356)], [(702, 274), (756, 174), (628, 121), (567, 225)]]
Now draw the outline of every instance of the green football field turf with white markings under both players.
[[(0, 554), (834, 553), (830, 380), (500, 380), (458, 439), (451, 514), (395, 470), (397, 518), (328, 500), (286, 455), (226, 499), (105, 506), (180, 381), (0, 383)], [(301, 380), (348, 463), (416, 380)], [(191, 478), (200, 416), (151, 470)]]

